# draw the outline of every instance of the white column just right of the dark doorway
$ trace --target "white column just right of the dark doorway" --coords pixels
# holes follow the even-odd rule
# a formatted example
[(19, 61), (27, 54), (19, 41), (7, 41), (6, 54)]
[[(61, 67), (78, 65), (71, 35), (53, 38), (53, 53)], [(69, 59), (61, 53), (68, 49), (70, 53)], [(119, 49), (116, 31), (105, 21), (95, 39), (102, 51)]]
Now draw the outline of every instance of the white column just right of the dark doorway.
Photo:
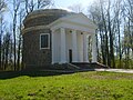
[(78, 62), (76, 30), (72, 30), (72, 62)]

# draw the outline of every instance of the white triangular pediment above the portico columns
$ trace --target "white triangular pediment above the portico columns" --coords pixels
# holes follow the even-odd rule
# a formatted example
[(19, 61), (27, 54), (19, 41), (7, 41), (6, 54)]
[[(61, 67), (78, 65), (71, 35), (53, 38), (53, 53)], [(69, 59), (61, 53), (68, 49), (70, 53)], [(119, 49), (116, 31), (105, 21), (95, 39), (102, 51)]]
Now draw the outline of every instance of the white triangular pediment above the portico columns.
[(74, 13), (62, 17), (50, 23), (48, 27), (50, 27), (51, 30), (63, 27), (68, 29), (86, 31), (90, 33), (94, 33), (96, 29), (96, 26), (83, 13)]

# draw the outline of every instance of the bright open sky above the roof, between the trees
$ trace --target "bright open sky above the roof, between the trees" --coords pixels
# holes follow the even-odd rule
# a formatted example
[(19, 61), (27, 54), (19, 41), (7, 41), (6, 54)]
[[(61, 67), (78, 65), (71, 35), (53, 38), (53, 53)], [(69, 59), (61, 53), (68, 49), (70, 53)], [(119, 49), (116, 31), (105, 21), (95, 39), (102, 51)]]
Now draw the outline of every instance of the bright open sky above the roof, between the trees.
[(84, 8), (89, 7), (94, 0), (54, 0), (54, 7), (66, 9), (70, 6), (81, 4)]

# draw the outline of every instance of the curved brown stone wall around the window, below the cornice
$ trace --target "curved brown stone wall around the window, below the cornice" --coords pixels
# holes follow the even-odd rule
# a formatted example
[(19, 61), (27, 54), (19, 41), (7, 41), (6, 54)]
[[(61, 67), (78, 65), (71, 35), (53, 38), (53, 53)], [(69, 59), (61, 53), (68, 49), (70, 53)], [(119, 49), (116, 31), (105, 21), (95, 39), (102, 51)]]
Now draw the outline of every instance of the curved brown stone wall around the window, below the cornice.
[(29, 31), (23, 34), (23, 62), (25, 66), (47, 66), (51, 63), (50, 49), (40, 49), (40, 33), (50, 33), (49, 29)]

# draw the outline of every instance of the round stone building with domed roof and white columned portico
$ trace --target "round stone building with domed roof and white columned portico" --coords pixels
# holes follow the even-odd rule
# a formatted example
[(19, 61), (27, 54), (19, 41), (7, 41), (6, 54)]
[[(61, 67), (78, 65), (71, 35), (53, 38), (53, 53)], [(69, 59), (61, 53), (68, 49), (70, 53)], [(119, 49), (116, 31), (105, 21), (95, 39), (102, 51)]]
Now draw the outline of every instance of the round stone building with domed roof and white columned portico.
[(92, 37), (92, 62), (96, 62), (96, 26), (83, 13), (37, 10), (25, 17), (23, 24), (25, 66), (89, 62), (89, 36)]

